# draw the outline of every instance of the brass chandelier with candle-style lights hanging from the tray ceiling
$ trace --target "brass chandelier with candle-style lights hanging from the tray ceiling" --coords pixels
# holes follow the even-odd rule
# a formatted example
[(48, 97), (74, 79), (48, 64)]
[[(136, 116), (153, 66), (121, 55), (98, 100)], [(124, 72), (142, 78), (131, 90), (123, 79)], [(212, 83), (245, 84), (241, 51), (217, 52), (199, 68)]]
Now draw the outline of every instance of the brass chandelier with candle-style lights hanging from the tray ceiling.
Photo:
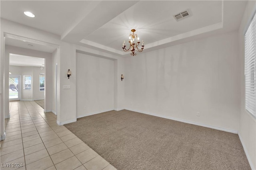
[[(134, 53), (135, 51), (138, 52), (142, 52), (144, 49), (144, 45), (143, 45), (143, 40), (142, 40), (142, 45), (141, 45), (141, 49), (138, 48), (140, 41), (139, 41), (139, 37), (137, 34), (135, 34), (134, 32), (136, 31), (135, 29), (131, 30), (132, 33), (129, 36), (129, 43), (130, 43), (130, 47), (129, 49), (126, 49), (126, 45), (125, 45), (125, 41), (123, 42), (123, 47), (122, 49), (127, 52), (127, 51), (132, 51), (131, 55), (134, 56), (136, 55), (136, 53)], [(136, 42), (135, 42), (136, 41)]]

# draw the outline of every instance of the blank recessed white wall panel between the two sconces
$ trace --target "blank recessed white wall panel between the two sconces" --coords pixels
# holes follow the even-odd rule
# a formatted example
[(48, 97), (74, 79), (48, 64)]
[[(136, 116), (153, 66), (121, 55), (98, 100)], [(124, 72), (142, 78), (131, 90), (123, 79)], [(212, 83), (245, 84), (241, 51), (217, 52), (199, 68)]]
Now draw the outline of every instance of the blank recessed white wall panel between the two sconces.
[(76, 53), (76, 117), (114, 109), (114, 61)]

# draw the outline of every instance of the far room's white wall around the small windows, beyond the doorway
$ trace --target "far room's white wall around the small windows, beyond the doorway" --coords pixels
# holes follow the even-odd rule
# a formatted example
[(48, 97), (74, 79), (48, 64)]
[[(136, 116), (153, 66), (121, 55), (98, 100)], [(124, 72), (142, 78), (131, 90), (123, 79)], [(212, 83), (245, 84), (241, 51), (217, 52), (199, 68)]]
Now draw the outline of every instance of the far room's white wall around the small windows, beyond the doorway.
[[(41, 70), (40, 67), (10, 66), (9, 70), (14, 75), (21, 75), (21, 100), (44, 100), (44, 91), (39, 90), (39, 74), (45, 73), (44, 68)], [(23, 75), (32, 76), (31, 90), (23, 90)]]

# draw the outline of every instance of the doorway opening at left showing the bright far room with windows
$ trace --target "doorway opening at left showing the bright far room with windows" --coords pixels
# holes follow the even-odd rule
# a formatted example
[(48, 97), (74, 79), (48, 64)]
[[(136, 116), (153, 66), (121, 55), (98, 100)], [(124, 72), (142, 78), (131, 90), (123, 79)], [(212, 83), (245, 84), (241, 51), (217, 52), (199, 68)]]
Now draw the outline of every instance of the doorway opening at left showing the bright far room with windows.
[(44, 101), (45, 59), (12, 53), (9, 58), (9, 100)]

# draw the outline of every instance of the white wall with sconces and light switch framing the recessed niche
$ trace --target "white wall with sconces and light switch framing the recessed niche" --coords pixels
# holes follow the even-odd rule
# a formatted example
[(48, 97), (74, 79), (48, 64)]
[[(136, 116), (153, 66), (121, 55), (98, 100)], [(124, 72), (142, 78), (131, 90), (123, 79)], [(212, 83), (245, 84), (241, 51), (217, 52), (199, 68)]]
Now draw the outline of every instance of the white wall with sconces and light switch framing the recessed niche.
[[(74, 122), (76, 121), (76, 79), (77, 74), (76, 74), (76, 53), (83, 53), (86, 55), (92, 55), (95, 57), (100, 57), (100, 58), (107, 58), (110, 60), (117, 60), (115, 63), (115, 73), (114, 73), (114, 81), (116, 82), (115, 87), (116, 88), (114, 91), (115, 97), (118, 98), (115, 99), (116, 103), (114, 104), (115, 108), (119, 109), (122, 108), (122, 104), (124, 103), (123, 98), (123, 92), (124, 92), (124, 84), (121, 83), (119, 73), (124, 69), (123, 64), (123, 58), (122, 57), (117, 57), (115, 55), (111, 55), (108, 53), (104, 53), (101, 51), (97, 51), (94, 49), (89, 49), (86, 47), (70, 44), (70, 43), (65, 43), (61, 42), (60, 45), (60, 61), (59, 61), (59, 66), (58, 66), (58, 78), (59, 79), (59, 100), (60, 100), (60, 105), (57, 107), (59, 109), (57, 114), (57, 122), (60, 125)], [(70, 76), (70, 79), (67, 77), (67, 72), (68, 69), (72, 71), (72, 76)], [(70, 85), (70, 89), (63, 89), (64, 85)], [(120, 99), (120, 100), (119, 100)]]

